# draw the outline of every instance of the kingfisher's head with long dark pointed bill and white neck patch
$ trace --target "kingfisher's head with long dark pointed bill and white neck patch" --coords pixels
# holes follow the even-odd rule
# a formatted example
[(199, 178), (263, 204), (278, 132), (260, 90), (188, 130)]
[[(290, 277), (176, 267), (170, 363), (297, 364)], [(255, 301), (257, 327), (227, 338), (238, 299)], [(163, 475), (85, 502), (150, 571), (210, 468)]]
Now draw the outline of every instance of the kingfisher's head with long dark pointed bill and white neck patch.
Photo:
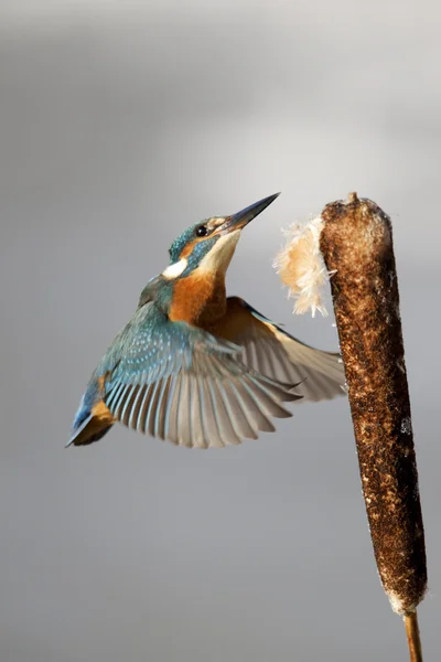
[(170, 265), (162, 273), (166, 280), (186, 278), (196, 271), (225, 276), (240, 233), (279, 193), (269, 195), (232, 216), (213, 216), (195, 223), (170, 247)]

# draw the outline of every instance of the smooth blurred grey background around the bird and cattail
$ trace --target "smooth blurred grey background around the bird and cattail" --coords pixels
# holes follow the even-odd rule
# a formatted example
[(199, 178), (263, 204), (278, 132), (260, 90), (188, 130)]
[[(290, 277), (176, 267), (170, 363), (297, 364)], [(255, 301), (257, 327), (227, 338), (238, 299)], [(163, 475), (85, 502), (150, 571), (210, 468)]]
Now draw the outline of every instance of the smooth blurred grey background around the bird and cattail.
[(440, 18), (406, 0), (1, 6), (1, 662), (407, 659), (345, 401), (223, 451), (122, 427), (64, 449), (172, 239), (279, 190), (229, 290), (323, 349), (332, 318), (293, 318), (271, 267), (280, 228), (353, 190), (391, 215), (439, 658)]

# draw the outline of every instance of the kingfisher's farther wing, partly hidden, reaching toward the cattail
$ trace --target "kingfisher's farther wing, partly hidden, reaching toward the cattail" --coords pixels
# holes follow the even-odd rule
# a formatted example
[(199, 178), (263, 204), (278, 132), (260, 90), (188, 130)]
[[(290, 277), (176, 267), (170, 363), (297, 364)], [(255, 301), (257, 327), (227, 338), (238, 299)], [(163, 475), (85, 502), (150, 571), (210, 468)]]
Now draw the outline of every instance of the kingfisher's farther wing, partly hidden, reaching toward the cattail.
[(228, 308), (215, 334), (243, 346), (243, 361), (256, 372), (277, 382), (300, 384), (301, 402), (331, 399), (344, 395), (344, 367), (338, 353), (303, 344), (238, 297), (228, 298)]

